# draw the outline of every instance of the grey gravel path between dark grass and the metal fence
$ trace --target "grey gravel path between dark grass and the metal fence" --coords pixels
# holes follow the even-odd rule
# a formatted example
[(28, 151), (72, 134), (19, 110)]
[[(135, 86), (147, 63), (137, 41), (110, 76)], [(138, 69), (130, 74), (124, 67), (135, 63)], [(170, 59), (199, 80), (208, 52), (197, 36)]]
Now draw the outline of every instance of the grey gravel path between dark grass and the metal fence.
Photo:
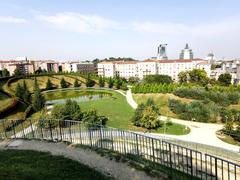
[(0, 150), (3, 149), (36, 150), (50, 152), (53, 155), (63, 155), (119, 180), (154, 179), (145, 172), (130, 167), (127, 163), (116, 162), (115, 160), (102, 157), (89, 149), (74, 148), (64, 143), (49, 143), (35, 140), (11, 140), (0, 142)]

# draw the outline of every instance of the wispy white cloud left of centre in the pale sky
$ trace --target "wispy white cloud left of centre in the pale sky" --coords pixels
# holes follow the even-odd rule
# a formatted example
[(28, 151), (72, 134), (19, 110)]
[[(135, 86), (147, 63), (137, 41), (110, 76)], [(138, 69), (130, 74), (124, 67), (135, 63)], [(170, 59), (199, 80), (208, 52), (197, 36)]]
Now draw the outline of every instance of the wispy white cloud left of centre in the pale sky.
[(119, 29), (119, 23), (97, 15), (85, 15), (73, 12), (55, 15), (38, 15), (38, 20), (59, 29), (80, 33), (102, 33), (109, 29)]

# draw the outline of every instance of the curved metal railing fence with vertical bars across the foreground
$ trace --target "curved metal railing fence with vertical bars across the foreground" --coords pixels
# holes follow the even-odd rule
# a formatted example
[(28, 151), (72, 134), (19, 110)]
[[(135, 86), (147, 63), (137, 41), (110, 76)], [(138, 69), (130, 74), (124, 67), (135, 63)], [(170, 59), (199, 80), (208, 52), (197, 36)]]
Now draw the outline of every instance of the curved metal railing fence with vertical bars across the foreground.
[(163, 139), (79, 121), (2, 120), (0, 138), (68, 141), (142, 157), (200, 179), (240, 179), (240, 165)]

